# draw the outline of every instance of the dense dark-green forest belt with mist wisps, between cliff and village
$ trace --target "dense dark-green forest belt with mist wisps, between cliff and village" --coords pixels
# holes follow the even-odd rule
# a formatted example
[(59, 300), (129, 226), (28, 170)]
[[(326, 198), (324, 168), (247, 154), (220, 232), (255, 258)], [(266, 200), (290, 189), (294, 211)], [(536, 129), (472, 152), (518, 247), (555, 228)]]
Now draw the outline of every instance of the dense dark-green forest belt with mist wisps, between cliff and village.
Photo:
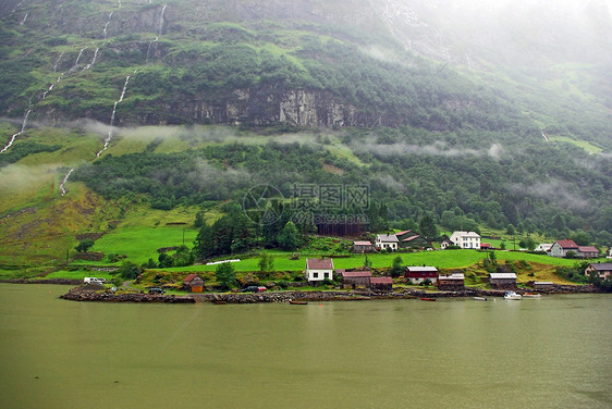
[[(296, 184), (367, 185), (370, 202), (384, 203), (385, 219), (395, 225), (429, 215), (450, 230), (512, 224), (550, 237), (585, 230), (593, 240), (612, 239), (610, 161), (540, 140), (516, 148), (487, 141), (480, 133), (448, 135), (448, 141), (436, 144), (426, 136), (409, 127), (343, 133), (342, 144), (358, 161), (332, 153), (325, 137), (314, 144), (234, 142), (176, 153), (156, 153), (156, 141), (144, 152), (107, 156), (79, 168), (74, 178), (106, 197), (140, 195), (166, 210), (228, 198), (241, 203), (258, 184), (277, 187), (287, 199)], [(451, 145), (457, 137), (466, 139), (461, 148)], [(470, 145), (482, 148), (466, 148)]]

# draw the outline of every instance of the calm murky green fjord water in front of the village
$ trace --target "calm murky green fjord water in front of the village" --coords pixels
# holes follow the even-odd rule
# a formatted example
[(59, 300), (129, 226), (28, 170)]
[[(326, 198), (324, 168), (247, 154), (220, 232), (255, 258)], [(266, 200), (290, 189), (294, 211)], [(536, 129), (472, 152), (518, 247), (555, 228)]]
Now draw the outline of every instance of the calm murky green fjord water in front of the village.
[(610, 408), (612, 297), (64, 301), (0, 284), (2, 408)]

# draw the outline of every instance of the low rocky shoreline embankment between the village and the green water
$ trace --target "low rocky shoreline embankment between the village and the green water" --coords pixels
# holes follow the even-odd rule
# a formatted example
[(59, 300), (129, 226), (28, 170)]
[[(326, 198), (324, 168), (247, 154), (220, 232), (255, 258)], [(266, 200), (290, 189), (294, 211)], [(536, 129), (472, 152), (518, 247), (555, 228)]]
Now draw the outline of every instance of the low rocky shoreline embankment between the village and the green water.
[[(527, 293), (523, 289), (519, 294)], [(558, 285), (540, 294), (574, 294), (600, 293), (590, 285)], [(258, 302), (289, 302), (294, 301), (364, 301), (372, 299), (413, 299), (413, 298), (451, 298), (451, 297), (503, 297), (504, 290), (465, 288), (456, 292), (425, 292), (420, 289), (402, 289), (380, 293), (369, 290), (352, 292), (265, 292), (265, 293), (204, 293), (175, 295), (150, 295), (143, 293), (112, 293), (101, 290), (97, 285), (86, 285), (72, 288), (60, 298), (73, 301), (103, 301), (103, 302), (166, 302), (166, 303), (258, 303)]]

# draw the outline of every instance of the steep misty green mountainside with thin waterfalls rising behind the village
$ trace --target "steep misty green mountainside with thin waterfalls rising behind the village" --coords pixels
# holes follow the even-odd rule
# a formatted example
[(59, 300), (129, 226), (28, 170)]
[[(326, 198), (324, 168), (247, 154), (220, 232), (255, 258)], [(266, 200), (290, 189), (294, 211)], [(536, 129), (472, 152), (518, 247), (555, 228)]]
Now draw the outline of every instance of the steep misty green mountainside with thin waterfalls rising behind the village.
[(262, 184), (367, 186), (372, 231), (610, 245), (608, 38), (547, 20), (567, 51), (529, 48), (448, 5), (4, 1), (0, 270), (51, 271), (85, 234), (142, 263)]

